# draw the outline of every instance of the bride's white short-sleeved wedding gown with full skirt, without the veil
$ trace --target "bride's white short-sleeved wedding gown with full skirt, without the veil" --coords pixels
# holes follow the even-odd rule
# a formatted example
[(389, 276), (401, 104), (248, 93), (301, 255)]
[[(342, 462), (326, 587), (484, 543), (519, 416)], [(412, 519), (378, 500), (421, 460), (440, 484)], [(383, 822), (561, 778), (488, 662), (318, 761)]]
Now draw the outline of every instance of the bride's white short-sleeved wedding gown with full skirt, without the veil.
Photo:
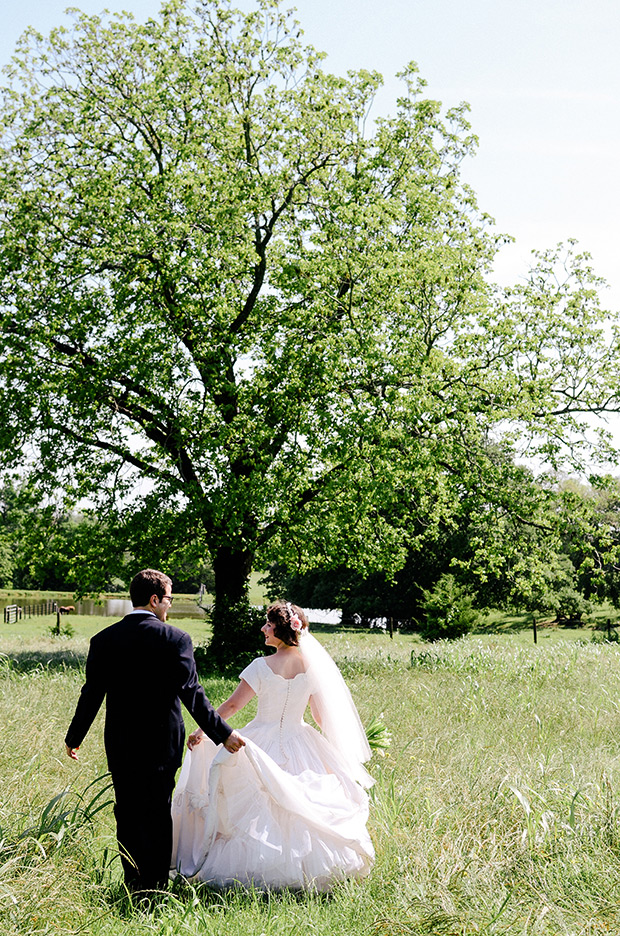
[(368, 873), (368, 795), (303, 720), (312, 668), (293, 679), (264, 657), (241, 673), (258, 696), (237, 754), (208, 738), (185, 758), (172, 805), (172, 866), (223, 887), (327, 890)]

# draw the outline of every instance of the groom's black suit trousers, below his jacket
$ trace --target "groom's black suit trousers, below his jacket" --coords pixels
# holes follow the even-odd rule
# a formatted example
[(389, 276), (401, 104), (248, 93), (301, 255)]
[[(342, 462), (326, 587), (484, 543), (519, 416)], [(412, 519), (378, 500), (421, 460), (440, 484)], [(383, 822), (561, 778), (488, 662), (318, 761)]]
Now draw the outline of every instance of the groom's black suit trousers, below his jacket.
[(112, 772), (116, 836), (125, 883), (132, 890), (167, 886), (175, 773), (170, 769)]

